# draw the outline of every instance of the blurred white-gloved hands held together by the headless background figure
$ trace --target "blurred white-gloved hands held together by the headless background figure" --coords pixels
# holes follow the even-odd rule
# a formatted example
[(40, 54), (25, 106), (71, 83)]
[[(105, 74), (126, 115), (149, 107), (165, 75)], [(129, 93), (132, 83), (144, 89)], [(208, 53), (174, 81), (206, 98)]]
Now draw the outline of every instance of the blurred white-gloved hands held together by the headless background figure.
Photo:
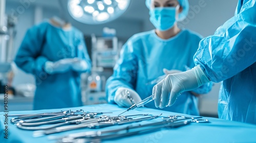
[(61, 59), (56, 62), (47, 61), (44, 68), (48, 74), (65, 73), (71, 69), (73, 62), (74, 59), (72, 58)]

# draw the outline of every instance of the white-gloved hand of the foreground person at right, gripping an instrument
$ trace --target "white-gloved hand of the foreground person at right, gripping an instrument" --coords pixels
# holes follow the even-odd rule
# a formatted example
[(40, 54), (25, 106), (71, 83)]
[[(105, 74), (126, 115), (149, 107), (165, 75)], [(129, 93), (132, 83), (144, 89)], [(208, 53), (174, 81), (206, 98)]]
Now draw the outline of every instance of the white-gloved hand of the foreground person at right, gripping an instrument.
[(199, 65), (182, 73), (170, 74), (153, 88), (155, 106), (172, 106), (182, 92), (193, 90), (207, 82), (209, 79)]

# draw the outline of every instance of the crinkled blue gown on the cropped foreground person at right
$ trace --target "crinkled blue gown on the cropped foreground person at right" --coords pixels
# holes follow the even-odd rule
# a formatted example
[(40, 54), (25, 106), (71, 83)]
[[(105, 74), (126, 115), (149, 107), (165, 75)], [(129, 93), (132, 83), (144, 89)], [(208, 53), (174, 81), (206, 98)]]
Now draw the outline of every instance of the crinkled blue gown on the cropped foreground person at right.
[(221, 84), (219, 118), (256, 124), (256, 5), (239, 1), (236, 15), (204, 38), (194, 57)]

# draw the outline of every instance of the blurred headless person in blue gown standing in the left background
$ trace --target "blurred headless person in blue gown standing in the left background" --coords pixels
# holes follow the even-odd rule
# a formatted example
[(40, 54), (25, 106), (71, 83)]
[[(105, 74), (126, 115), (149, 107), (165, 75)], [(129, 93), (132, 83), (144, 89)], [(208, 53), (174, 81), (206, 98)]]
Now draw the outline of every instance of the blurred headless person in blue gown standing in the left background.
[(16, 65), (36, 80), (34, 110), (82, 106), (80, 74), (91, 61), (83, 34), (53, 17), (30, 28), (19, 47)]

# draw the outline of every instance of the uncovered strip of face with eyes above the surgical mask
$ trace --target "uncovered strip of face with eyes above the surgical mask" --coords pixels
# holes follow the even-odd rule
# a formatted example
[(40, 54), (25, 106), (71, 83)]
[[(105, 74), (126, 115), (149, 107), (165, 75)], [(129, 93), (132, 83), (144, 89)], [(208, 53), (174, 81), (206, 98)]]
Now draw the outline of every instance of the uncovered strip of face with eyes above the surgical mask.
[(177, 0), (152, 0), (151, 7), (177, 7), (179, 2)]

